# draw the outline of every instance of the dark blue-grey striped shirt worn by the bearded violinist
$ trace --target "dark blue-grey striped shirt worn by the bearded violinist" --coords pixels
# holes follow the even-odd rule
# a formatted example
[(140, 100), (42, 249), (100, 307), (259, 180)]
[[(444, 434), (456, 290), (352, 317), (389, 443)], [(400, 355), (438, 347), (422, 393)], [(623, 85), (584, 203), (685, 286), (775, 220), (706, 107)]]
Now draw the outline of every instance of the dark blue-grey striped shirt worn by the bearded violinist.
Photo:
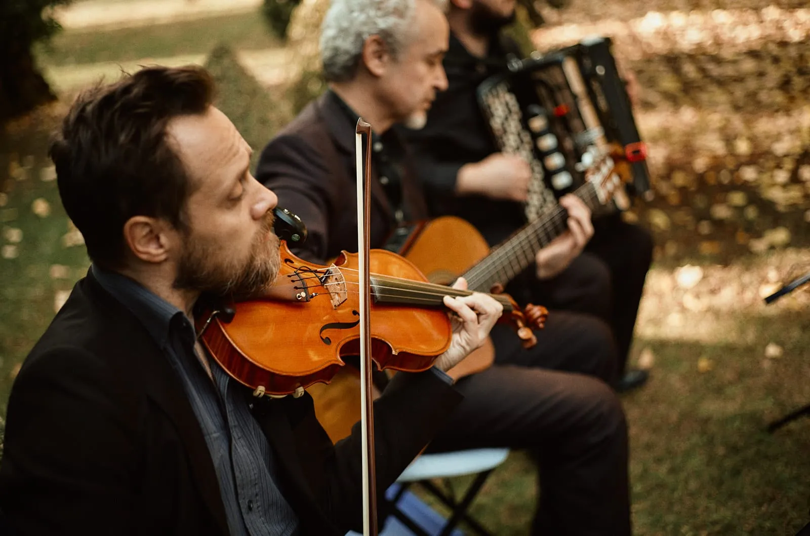
[(95, 265), (92, 270), (147, 328), (181, 377), (211, 452), (231, 536), (297, 534), (298, 517), (275, 483), (270, 445), (241, 384), (205, 355), (211, 381), (195, 354), (194, 327), (185, 313), (127, 277)]

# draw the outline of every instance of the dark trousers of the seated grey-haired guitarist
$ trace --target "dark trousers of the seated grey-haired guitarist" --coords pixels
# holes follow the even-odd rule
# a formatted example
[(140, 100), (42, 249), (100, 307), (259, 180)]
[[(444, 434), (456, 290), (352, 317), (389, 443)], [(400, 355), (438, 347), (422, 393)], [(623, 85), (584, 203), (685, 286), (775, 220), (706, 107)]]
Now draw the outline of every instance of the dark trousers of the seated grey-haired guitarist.
[(616, 374), (610, 328), (551, 311), (536, 333), (538, 344), (523, 349), (510, 328), (492, 330), (496, 365), (458, 381), (465, 398), (428, 450), (528, 449), (541, 490), (531, 534), (627, 536), (627, 427), (608, 387)]

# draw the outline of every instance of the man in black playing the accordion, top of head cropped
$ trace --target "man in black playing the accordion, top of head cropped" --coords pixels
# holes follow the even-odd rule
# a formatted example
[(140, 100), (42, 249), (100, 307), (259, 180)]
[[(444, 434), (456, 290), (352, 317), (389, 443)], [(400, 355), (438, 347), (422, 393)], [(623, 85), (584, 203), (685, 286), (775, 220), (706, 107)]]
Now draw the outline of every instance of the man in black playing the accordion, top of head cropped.
[[(470, 221), (491, 245), (526, 225), (523, 202), (531, 178), (521, 157), (498, 152), (476, 96), (484, 79), (507, 69), (509, 54), (522, 58), (517, 44), (501, 33), (514, 21), (515, 2), (450, 0), (450, 48), (444, 58), (448, 88), (438, 93), (421, 128), (403, 129), (414, 168), (430, 192), (432, 215)], [(586, 225), (590, 228), (590, 221)], [(600, 217), (592, 227), (590, 241), (572, 229), (540, 250), (535, 266), (507, 292), (518, 302), (588, 313), (607, 322), (618, 346), (615, 385), (629, 391), (648, 377), (647, 371), (628, 370), (627, 361), (653, 242), (646, 230), (625, 223), (619, 214)]]

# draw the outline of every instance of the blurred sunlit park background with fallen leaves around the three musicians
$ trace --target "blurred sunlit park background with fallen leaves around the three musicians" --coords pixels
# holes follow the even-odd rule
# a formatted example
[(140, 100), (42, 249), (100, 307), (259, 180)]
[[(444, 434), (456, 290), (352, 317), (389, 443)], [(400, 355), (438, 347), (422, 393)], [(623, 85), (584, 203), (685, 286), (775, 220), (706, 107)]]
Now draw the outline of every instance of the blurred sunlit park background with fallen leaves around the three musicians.
[[(513, 32), (527, 52), (612, 36), (640, 86), (635, 114), (656, 196), (625, 217), (648, 226), (657, 245), (633, 348), (652, 379), (623, 397), (637, 534), (795, 534), (810, 521), (810, 420), (765, 431), (810, 402), (810, 290), (762, 302), (810, 272), (803, 5), (525, 0), (519, 8)], [(141, 65), (202, 64), (218, 81), (220, 108), (262, 148), (324, 88), (317, 41), (326, 6), (0, 3), (0, 431), (20, 362), (88, 266), (47, 157), (75, 93)], [(531, 463), (514, 452), (471, 508), (496, 534), (527, 532)]]

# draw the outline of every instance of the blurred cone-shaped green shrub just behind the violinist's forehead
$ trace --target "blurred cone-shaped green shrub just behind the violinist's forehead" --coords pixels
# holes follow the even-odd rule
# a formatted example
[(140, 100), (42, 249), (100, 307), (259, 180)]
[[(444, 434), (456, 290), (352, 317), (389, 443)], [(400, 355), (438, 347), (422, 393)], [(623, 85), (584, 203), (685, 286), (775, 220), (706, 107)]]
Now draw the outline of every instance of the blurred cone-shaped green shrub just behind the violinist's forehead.
[(216, 80), (217, 107), (254, 148), (251, 164), (255, 165), (264, 145), (292, 120), (289, 104), (263, 88), (226, 45), (218, 45), (211, 51), (205, 67)]

